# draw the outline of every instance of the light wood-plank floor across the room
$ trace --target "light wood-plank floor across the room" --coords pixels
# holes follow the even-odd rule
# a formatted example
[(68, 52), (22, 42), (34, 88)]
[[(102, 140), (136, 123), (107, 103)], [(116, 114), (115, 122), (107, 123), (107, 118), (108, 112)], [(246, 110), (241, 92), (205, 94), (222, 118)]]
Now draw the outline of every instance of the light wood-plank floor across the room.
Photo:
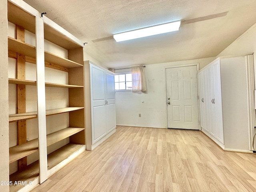
[(46, 191), (256, 192), (256, 155), (224, 152), (200, 131), (118, 126), (33, 190)]

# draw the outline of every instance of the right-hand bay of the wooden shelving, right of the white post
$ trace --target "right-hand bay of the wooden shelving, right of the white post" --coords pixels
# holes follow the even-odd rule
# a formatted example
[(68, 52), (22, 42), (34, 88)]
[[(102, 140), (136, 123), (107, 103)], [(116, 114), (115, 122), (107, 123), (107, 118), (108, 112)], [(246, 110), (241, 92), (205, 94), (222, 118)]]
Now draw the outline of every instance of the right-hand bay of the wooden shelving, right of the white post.
[[(46, 116), (69, 112), (69, 128), (59, 130), (53, 133), (56, 138), (68, 138), (69, 143), (56, 148), (48, 154), (47, 166), (48, 175), (52, 174), (56, 169), (64, 165), (68, 159), (72, 159), (81, 150), (85, 149), (85, 116), (84, 116), (84, 63), (83, 63), (83, 46), (77, 38), (71, 34), (65, 34), (63, 29), (51, 20), (43, 16), (44, 20), (44, 38), (64, 49), (68, 52), (68, 58), (62, 58), (55, 54), (44, 52), (45, 62), (53, 64), (56, 70), (68, 72), (68, 84), (45, 83), (45, 86), (56, 88), (68, 88), (68, 108), (52, 109), (46, 111)], [(80, 43), (78, 43), (80, 42)], [(47, 65), (46, 65), (47, 66)], [(64, 70), (63, 70), (64, 69)], [(47, 75), (47, 74), (46, 74)], [(47, 94), (47, 92), (46, 92)], [(52, 98), (54, 100), (54, 98)], [(53, 116), (52, 118), (55, 118)], [(56, 117), (57, 118), (57, 117)], [(47, 127), (50, 130), (51, 127)], [(47, 137), (48, 145), (48, 137)]]

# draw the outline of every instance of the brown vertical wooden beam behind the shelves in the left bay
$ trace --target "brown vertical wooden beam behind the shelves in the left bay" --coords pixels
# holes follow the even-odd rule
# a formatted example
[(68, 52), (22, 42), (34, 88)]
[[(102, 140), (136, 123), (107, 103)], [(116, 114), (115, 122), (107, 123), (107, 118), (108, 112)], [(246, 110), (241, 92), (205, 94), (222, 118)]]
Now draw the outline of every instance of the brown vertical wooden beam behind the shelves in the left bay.
[[(16, 25), (16, 38), (25, 42), (24, 28)], [(25, 55), (17, 53), (17, 79), (25, 80)], [(26, 112), (26, 85), (17, 84), (17, 112)], [(18, 145), (27, 142), (26, 120), (18, 120)], [(24, 170), (27, 166), (27, 157), (18, 160), (18, 170)]]

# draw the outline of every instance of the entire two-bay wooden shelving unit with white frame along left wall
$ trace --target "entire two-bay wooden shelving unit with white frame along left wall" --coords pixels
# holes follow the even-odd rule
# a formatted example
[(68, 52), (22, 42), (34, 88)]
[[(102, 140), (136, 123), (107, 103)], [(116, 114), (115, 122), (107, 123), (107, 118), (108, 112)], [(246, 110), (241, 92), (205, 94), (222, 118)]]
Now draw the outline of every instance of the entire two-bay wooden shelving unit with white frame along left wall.
[(10, 191), (30, 190), (86, 149), (83, 47), (22, 0), (8, 1)]

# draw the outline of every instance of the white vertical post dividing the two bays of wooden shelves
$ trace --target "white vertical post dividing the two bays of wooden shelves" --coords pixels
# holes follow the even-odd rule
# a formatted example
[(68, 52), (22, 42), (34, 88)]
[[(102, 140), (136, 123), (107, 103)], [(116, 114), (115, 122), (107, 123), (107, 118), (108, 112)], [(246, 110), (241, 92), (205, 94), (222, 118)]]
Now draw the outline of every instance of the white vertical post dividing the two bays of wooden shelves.
[(44, 21), (36, 16), (36, 75), (38, 96), (38, 144), (40, 184), (47, 175), (47, 143), (46, 143), (46, 105), (45, 105), (45, 79), (44, 79)]

